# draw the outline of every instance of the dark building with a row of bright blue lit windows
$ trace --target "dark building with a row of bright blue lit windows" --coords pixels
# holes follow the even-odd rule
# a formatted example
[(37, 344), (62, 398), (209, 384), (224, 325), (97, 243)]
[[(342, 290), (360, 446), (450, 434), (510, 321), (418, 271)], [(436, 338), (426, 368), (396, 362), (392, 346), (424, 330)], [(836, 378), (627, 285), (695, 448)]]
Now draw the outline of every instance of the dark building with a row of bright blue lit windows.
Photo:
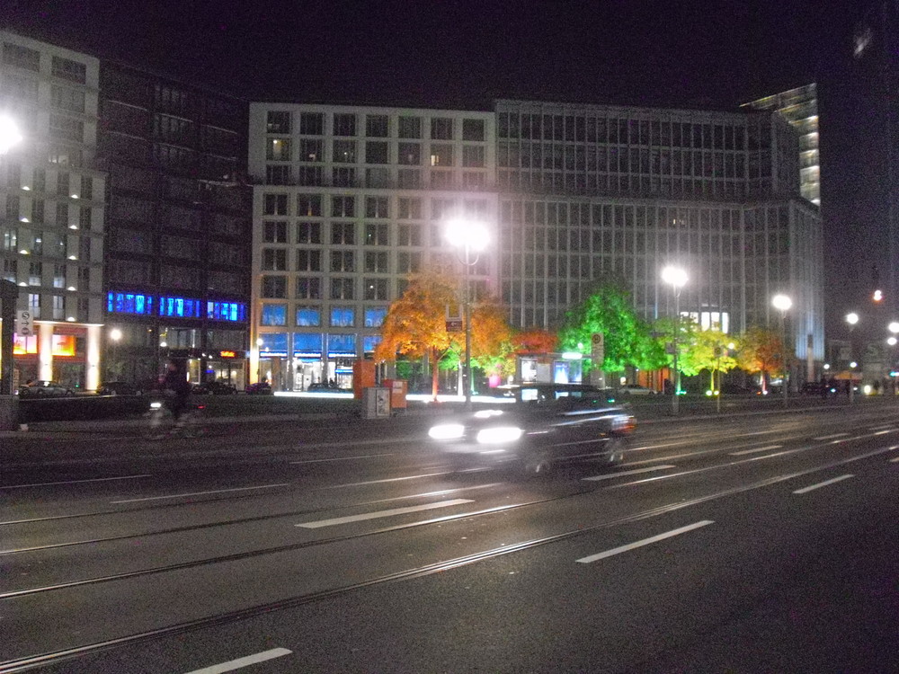
[(250, 189), (247, 106), (103, 61), (100, 155), (109, 172), (106, 256), (111, 377), (245, 384)]

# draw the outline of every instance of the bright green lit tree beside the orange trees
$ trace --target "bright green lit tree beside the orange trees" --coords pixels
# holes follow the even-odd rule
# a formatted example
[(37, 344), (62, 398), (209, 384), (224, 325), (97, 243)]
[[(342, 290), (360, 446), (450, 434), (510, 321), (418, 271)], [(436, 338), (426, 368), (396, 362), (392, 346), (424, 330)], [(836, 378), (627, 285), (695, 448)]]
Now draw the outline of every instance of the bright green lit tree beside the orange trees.
[(602, 279), (583, 302), (565, 314), (559, 343), (563, 350), (589, 356), (594, 333), (603, 334), (605, 359), (591, 363), (592, 369), (655, 369), (665, 362), (663, 344), (654, 339), (649, 324), (637, 317), (628, 290), (614, 279)]

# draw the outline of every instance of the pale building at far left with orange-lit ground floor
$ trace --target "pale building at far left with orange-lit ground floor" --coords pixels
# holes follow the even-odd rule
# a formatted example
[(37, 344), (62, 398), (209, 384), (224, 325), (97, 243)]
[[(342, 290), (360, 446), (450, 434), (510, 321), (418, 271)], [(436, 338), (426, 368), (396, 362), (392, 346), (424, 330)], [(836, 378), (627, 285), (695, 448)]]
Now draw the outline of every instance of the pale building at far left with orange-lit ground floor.
[(98, 73), (96, 58), (0, 31), (0, 111), (23, 137), (0, 157), (0, 260), (37, 325), (15, 338), (22, 383), (100, 383), (106, 176), (95, 156)]

